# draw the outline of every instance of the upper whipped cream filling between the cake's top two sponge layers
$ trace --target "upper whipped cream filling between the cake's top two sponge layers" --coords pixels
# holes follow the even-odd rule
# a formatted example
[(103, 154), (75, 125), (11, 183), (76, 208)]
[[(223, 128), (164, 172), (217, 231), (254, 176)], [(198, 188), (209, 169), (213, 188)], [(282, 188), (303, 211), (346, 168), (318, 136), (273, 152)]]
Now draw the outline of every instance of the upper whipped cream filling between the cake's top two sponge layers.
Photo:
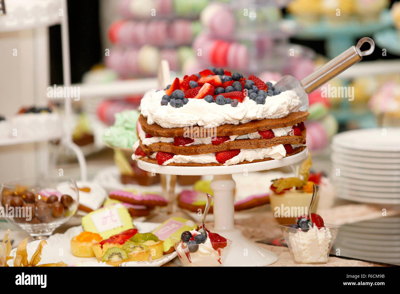
[[(295, 124), (295, 126), (297, 126), (297, 124)], [(271, 129), (271, 130), (274, 133), (275, 137), (282, 137), (282, 136), (287, 136), (287, 135), (293, 136), (291, 126), (287, 126), (284, 128)], [(145, 146), (149, 146), (151, 144), (158, 143), (158, 142), (165, 142), (165, 143), (174, 142), (174, 138), (167, 138), (167, 137), (146, 138), (146, 133), (143, 130), (140, 131), (139, 138), (142, 141), (142, 144)], [(259, 138), (262, 138), (261, 135), (258, 132), (254, 132), (254, 133), (250, 133), (250, 134), (244, 134), (241, 136), (238, 136), (238, 135), (229, 136), (229, 140), (227, 140), (225, 142), (234, 141), (234, 140), (242, 140), (242, 139), (259, 139)], [(191, 138), (191, 139), (194, 140), (192, 143), (189, 143), (189, 144), (186, 144), (183, 146), (199, 145), (199, 144), (212, 144), (212, 142), (211, 142), (212, 137)]]

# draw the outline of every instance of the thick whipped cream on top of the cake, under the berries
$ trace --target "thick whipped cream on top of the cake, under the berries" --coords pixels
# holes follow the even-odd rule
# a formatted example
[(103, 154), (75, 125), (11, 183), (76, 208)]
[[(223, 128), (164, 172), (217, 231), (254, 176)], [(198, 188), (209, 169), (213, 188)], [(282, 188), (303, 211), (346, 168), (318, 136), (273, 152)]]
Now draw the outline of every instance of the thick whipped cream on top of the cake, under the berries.
[(301, 102), (293, 91), (284, 91), (275, 96), (267, 96), (265, 104), (256, 104), (246, 96), (242, 103), (218, 105), (204, 99), (190, 98), (189, 102), (174, 108), (170, 104), (161, 105), (164, 90), (148, 91), (144, 94), (140, 108), (148, 124), (158, 124), (163, 128), (202, 126), (214, 128), (222, 124), (239, 124), (263, 118), (282, 118), (300, 109)]

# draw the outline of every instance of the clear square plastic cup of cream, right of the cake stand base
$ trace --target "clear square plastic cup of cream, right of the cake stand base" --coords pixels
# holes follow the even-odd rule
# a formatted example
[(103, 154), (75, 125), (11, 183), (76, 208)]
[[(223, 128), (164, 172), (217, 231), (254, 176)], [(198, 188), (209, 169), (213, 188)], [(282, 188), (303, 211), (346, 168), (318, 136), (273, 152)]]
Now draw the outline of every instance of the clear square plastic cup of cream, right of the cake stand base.
[(322, 228), (309, 228), (307, 231), (280, 225), (286, 244), (295, 262), (324, 264), (328, 262), (329, 252), (338, 236), (340, 226), (325, 224)]

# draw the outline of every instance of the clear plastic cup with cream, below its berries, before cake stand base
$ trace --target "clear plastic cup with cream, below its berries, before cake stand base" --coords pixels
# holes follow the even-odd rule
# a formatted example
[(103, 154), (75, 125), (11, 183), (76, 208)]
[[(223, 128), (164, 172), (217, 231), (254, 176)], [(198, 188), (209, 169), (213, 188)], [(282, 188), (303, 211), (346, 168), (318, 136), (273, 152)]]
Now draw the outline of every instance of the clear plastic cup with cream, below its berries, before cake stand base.
[[(183, 266), (222, 266), (229, 248), (232, 244), (231, 240), (226, 242), (197, 244), (199, 247), (196, 252), (190, 252), (189, 246), (180, 239), (180, 236), (170, 237), (172, 244), (180, 262)], [(194, 250), (191, 250), (194, 251)]]

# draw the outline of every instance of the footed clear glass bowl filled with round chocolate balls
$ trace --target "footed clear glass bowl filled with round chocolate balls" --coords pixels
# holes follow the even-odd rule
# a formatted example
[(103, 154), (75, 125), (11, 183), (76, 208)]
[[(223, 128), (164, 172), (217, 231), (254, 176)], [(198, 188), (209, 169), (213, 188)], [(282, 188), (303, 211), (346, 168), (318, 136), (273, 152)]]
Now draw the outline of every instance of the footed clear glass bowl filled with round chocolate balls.
[[(62, 194), (57, 187), (68, 185), (74, 193)], [(72, 179), (23, 178), (2, 184), (0, 204), (10, 224), (28, 232), (34, 240), (47, 238), (78, 210), (79, 190)]]

